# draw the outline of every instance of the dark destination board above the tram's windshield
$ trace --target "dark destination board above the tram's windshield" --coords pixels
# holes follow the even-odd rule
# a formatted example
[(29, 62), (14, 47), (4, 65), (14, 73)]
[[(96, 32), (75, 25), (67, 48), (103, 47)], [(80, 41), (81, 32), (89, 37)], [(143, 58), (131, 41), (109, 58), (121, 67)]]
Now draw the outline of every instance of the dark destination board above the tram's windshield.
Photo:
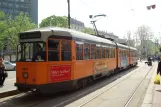
[(25, 32), (19, 35), (20, 39), (36, 39), (41, 37), (41, 32)]

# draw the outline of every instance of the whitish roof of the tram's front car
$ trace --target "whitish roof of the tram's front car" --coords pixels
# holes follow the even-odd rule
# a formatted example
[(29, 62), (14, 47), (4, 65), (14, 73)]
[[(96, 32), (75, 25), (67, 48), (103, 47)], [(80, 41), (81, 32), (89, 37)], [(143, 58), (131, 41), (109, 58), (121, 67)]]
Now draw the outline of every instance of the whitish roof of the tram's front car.
[[(94, 35), (86, 34), (83, 32), (75, 31), (72, 29), (67, 29), (67, 28), (58, 28), (58, 27), (45, 27), (45, 28), (36, 28), (36, 29), (31, 29), (22, 33), (31, 33), (31, 32), (40, 32), (41, 33), (41, 40), (44, 42), (51, 36), (51, 35), (58, 35), (58, 36), (67, 36), (67, 37), (72, 37), (72, 38), (80, 38), (80, 39), (85, 39), (93, 42), (100, 42), (100, 43), (106, 43), (106, 44), (111, 44), (115, 45), (114, 42), (104, 39), (101, 37), (97, 37)], [(20, 33), (21, 34), (21, 33)], [(28, 39), (28, 41), (32, 39)], [(36, 40), (36, 39), (34, 39)], [(27, 40), (21, 40), (21, 42), (24, 42)]]

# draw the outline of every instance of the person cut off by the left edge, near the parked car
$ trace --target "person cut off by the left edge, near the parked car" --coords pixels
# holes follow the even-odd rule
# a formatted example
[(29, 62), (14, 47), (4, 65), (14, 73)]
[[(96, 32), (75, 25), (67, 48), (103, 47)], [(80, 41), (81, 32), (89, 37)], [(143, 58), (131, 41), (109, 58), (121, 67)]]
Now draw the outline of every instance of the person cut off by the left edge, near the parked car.
[(0, 54), (0, 86), (3, 86), (6, 78), (5, 64)]

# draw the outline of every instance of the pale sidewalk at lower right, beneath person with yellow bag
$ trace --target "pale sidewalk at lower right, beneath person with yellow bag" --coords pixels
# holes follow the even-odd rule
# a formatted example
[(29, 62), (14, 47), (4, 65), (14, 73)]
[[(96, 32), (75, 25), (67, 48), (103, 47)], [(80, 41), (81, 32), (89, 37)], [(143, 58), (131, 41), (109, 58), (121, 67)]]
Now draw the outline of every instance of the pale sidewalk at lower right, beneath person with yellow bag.
[(153, 72), (153, 76), (146, 91), (144, 101), (141, 107), (161, 107), (161, 85), (154, 84), (157, 67)]

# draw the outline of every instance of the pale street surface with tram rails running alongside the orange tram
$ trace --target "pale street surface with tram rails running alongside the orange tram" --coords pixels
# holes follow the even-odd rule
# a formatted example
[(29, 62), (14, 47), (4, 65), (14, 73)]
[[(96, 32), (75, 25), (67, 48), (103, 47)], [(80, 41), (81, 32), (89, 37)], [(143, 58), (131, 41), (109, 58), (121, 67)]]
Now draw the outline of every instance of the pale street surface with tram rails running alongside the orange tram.
[[(140, 107), (156, 65), (149, 67), (142, 62), (138, 67), (102, 78), (76, 91), (50, 96), (31, 92), (18, 94), (0, 100), (0, 107)], [(11, 75), (15, 74), (11, 72)]]

